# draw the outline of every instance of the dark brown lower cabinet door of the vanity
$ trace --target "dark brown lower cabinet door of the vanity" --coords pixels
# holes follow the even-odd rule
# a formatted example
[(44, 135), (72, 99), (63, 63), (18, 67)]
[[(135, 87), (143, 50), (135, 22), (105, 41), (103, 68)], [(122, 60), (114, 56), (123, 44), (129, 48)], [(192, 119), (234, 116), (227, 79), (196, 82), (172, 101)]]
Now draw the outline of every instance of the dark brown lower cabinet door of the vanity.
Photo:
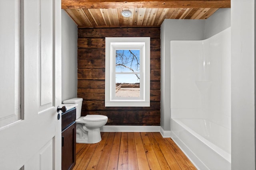
[(76, 123), (62, 132), (62, 170), (72, 170), (76, 164)]

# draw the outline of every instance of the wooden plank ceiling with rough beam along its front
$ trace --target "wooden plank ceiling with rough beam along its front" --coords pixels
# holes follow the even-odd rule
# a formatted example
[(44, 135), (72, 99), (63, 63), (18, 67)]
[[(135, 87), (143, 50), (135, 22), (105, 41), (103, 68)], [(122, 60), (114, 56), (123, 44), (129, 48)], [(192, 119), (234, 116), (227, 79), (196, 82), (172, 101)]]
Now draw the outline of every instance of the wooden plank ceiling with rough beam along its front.
[(205, 20), (219, 8), (230, 8), (230, 0), (62, 0), (78, 27), (159, 27), (164, 19)]

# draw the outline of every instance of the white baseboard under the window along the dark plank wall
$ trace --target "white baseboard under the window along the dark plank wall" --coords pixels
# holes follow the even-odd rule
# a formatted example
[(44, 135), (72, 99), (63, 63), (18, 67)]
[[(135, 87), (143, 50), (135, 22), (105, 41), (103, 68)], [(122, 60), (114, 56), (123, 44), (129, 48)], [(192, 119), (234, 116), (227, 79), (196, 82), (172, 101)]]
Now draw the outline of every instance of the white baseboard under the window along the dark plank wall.
[(126, 126), (105, 125), (100, 128), (101, 132), (160, 132), (160, 126)]

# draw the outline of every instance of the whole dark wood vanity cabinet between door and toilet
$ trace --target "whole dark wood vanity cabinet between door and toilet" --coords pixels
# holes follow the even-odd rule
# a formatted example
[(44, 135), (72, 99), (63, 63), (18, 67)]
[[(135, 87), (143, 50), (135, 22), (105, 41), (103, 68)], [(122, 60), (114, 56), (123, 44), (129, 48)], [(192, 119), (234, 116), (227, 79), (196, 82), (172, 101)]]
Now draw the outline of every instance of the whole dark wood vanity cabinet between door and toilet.
[(62, 170), (72, 170), (76, 164), (76, 108), (62, 113)]

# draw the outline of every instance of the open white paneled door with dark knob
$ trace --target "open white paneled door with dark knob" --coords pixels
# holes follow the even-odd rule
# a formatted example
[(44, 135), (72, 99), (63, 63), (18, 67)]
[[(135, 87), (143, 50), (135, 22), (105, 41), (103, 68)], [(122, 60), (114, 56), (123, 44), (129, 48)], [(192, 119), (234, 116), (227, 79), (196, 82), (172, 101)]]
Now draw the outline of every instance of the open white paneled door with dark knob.
[(61, 169), (60, 104), (61, 1), (0, 0), (1, 170)]

